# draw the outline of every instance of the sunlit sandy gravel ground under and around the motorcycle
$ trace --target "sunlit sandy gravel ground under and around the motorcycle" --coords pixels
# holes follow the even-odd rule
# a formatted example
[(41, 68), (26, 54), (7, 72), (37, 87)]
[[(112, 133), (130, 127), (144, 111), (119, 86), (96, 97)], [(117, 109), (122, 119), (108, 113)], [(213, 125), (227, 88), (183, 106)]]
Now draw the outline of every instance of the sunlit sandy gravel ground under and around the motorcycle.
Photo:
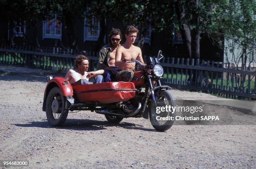
[[(69, 113), (63, 127), (51, 127), (42, 111), (49, 74), (0, 66), (0, 160), (28, 160), (24, 168), (256, 168), (253, 111), (212, 105), (239, 125), (175, 123), (166, 132), (154, 130), (148, 119), (113, 125), (90, 111)], [(220, 100), (172, 93), (178, 99)]]

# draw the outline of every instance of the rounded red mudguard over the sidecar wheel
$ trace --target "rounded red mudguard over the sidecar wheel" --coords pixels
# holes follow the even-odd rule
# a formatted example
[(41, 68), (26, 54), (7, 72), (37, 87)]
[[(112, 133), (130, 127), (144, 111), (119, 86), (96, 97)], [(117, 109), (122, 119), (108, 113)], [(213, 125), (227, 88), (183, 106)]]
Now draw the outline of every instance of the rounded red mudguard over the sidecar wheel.
[(52, 88), (59, 87), (63, 96), (73, 96), (73, 88), (69, 81), (62, 77), (52, 78), (48, 83), (44, 90), (44, 102), (43, 102), (43, 111), (45, 111), (46, 106), (46, 98), (48, 93)]

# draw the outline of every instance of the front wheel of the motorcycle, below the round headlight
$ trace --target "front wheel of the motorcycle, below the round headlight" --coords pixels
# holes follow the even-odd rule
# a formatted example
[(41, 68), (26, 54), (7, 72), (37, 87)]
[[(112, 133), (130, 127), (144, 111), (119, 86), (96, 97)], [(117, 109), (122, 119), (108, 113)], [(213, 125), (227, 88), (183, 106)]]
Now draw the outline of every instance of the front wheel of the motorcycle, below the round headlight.
[[(157, 106), (176, 106), (174, 96), (172, 96), (172, 93), (168, 90), (161, 91), (160, 95), (157, 97)], [(156, 114), (156, 108), (152, 102), (149, 103), (148, 105), (148, 110), (149, 110), (149, 118), (152, 126), (157, 130), (157, 131), (166, 131), (172, 127), (174, 124), (174, 120), (156, 120), (156, 116), (160, 117), (169, 117), (172, 116), (175, 118), (176, 112), (172, 113), (171, 111), (164, 111), (159, 114)]]

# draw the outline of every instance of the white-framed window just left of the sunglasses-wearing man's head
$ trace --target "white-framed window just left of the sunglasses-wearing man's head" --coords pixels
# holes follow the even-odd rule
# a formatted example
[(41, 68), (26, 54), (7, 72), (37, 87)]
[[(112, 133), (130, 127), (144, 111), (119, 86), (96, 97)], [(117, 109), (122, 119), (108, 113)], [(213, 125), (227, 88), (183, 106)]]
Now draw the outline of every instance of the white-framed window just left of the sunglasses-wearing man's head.
[(84, 41), (86, 40), (98, 40), (100, 35), (100, 22), (95, 18), (92, 18), (91, 22), (84, 20)]

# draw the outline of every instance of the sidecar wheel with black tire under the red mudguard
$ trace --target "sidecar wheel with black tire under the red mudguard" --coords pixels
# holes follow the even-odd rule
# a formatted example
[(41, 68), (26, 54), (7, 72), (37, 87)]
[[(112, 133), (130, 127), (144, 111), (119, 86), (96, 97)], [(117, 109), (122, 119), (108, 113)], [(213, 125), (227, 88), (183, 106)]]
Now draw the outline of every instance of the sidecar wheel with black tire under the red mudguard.
[(69, 103), (58, 87), (49, 92), (46, 99), (46, 117), (51, 126), (61, 126), (67, 119)]

